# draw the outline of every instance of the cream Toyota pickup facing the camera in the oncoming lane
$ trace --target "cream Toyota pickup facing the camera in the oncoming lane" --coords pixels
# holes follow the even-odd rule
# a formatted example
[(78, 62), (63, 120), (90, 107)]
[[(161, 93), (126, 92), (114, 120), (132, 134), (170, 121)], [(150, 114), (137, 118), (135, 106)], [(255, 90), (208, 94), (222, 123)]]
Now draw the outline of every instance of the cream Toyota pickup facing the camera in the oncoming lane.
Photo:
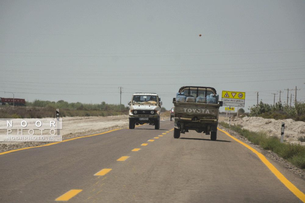
[(129, 105), (129, 129), (135, 125), (149, 123), (160, 128), (161, 99), (156, 93), (134, 93)]

